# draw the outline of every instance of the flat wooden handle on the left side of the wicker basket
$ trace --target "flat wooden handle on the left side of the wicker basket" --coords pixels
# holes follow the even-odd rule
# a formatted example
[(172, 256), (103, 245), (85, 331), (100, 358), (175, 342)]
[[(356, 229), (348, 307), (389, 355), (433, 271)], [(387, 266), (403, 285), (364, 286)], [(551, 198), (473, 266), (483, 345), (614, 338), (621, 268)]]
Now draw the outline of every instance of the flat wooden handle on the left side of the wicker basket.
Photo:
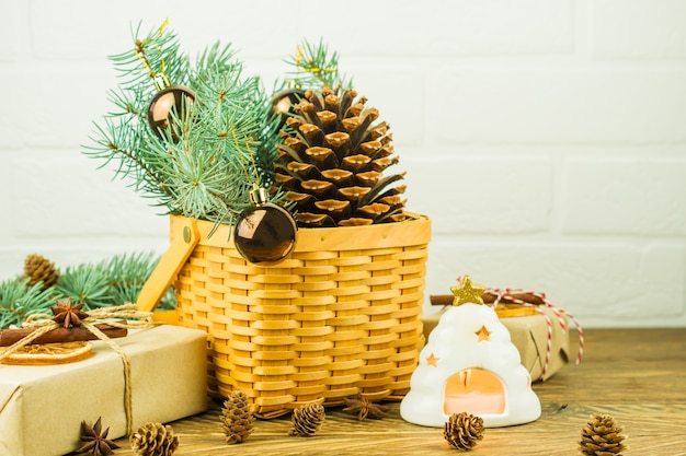
[(201, 239), (197, 224), (190, 218), (176, 224), (170, 237), (169, 248), (138, 294), (136, 305), (140, 311), (155, 311)]

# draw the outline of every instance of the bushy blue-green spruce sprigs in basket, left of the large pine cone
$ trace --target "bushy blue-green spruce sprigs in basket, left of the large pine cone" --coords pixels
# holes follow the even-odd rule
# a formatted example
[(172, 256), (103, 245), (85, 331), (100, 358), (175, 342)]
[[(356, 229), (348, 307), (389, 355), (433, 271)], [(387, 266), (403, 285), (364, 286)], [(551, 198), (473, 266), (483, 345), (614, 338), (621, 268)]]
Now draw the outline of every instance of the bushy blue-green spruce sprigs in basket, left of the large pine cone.
[[(167, 24), (142, 37), (140, 25), (132, 33), (133, 49), (111, 56), (123, 78), (108, 94), (115, 109), (95, 126), (84, 153), (114, 162), (115, 177), (132, 178), (136, 191), (170, 213), (233, 223), (253, 185), (274, 183), (278, 124), (260, 79), (243, 74), (230, 45), (216, 43), (191, 65)], [(195, 94), (170, 113), (161, 138), (147, 121), (160, 81)], [(275, 191), (272, 201), (282, 198)]]

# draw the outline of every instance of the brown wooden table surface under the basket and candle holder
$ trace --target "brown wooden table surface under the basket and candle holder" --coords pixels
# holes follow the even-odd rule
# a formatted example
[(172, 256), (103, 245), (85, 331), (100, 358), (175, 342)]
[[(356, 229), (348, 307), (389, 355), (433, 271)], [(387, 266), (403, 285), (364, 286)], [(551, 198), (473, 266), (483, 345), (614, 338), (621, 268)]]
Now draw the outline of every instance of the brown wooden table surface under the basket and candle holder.
[[(581, 454), (581, 429), (592, 413), (609, 413), (624, 426), (625, 455), (686, 455), (686, 328), (586, 330), (581, 364), (570, 363), (545, 383), (534, 385), (541, 417), (528, 424), (487, 429), (466, 454), (570, 456)], [(572, 338), (572, 344), (575, 338)], [(170, 400), (183, 400), (171, 398)], [(382, 420), (358, 421), (340, 408), (312, 437), (288, 436), (290, 418), (259, 420), (242, 444), (227, 445), (219, 406), (170, 423), (179, 435), (174, 455), (439, 455), (460, 454), (443, 429), (403, 421), (398, 404)], [(116, 455), (135, 455), (127, 440)]]

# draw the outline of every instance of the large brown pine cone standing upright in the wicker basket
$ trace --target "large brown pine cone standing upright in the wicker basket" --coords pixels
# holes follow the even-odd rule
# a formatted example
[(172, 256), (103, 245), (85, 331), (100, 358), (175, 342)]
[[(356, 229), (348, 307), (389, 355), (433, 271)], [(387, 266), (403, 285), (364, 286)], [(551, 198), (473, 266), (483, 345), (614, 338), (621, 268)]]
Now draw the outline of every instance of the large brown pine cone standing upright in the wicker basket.
[(398, 163), (392, 136), (379, 113), (357, 93), (322, 86), (305, 92), (282, 130), (276, 183), (297, 204), (300, 226), (365, 225), (404, 220), (404, 173), (384, 176)]

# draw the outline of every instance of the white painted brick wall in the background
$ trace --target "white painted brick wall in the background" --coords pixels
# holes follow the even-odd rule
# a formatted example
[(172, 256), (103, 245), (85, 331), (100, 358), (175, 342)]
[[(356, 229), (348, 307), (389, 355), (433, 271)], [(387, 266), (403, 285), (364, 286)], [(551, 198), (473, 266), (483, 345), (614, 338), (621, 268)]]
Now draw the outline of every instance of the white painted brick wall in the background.
[(470, 273), (586, 327), (686, 326), (682, 0), (3, 0), (0, 280), (34, 252), (164, 252), (159, 209), (81, 154), (106, 56), (164, 17), (193, 54), (232, 42), (266, 86), (304, 37), (340, 52), (433, 219), (427, 293)]

